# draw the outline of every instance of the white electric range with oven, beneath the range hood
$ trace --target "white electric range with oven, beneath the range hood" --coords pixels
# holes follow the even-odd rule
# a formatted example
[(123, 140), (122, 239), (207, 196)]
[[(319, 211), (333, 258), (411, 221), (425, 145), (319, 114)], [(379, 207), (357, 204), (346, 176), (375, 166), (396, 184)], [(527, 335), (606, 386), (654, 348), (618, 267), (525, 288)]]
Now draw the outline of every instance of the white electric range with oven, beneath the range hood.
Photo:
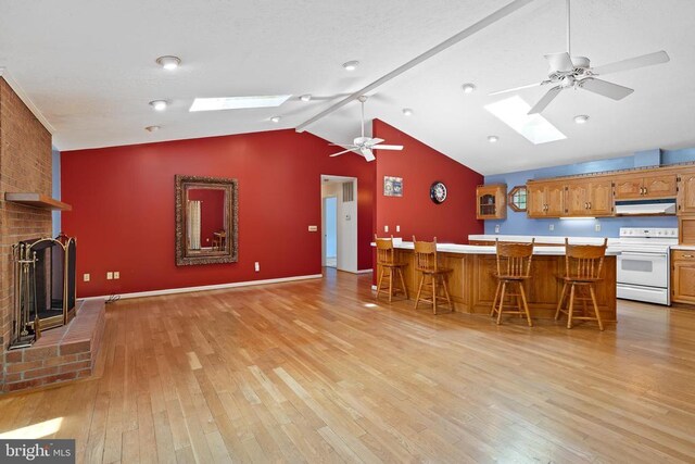
[(621, 227), (618, 298), (671, 304), (669, 250), (678, 244), (678, 228)]

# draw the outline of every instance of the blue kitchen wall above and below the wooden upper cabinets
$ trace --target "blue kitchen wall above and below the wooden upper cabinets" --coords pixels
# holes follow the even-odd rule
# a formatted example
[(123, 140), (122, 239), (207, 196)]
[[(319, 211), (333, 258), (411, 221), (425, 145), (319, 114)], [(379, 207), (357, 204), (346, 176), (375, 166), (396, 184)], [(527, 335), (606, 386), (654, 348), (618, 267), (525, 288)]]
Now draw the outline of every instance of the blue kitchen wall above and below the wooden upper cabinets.
[[(656, 155), (655, 155), (656, 152)], [(515, 186), (525, 185), (528, 179), (543, 179), (556, 176), (596, 173), (601, 171), (629, 170), (645, 165), (645, 160), (658, 159), (658, 150), (635, 153), (634, 156), (611, 158), (608, 160), (591, 161), (586, 163), (566, 164), (561, 166), (544, 167), (541, 170), (521, 171), (516, 173), (485, 176), (485, 184), (506, 184), (510, 190)], [(662, 150), (661, 164), (675, 164), (695, 161), (695, 148), (682, 150)], [(554, 230), (549, 230), (551, 224)], [(601, 231), (595, 225), (601, 224)], [(618, 237), (620, 227), (678, 227), (675, 216), (655, 217), (604, 217), (597, 220), (529, 220), (523, 213), (517, 213), (507, 208), (507, 218), (485, 221), (485, 234), (495, 234), (495, 226), (500, 226), (500, 234), (506, 235), (553, 235), (580, 237)]]

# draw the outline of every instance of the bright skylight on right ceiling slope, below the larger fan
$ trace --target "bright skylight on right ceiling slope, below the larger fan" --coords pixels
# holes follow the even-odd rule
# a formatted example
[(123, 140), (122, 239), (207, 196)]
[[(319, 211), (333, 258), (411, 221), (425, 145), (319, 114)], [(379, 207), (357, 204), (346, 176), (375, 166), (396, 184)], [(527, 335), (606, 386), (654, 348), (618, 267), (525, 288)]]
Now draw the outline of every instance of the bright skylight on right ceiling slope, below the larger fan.
[(531, 110), (531, 105), (519, 96), (486, 104), (485, 110), (529, 139), (531, 143), (546, 143), (567, 138), (540, 114), (527, 114)]

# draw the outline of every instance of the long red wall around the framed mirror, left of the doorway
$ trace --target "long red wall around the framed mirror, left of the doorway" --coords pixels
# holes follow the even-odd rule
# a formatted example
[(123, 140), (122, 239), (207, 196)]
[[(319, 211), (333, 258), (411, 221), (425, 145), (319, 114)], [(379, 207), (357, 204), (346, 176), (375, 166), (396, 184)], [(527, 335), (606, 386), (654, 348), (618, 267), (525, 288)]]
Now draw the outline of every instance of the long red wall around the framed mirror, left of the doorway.
[[(326, 140), (292, 129), (62, 152), (78, 296), (320, 274), (321, 174), (357, 177), (357, 265), (370, 268), (376, 165), (329, 153)], [(239, 179), (238, 263), (175, 265), (175, 174)], [(106, 280), (109, 271), (121, 279)]]

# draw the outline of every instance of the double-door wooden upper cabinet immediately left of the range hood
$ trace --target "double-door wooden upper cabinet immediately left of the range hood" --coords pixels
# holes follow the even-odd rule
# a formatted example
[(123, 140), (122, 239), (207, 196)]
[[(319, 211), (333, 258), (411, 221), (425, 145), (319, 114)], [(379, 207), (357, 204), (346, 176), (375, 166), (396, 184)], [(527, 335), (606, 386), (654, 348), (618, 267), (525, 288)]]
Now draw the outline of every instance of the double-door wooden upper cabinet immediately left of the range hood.
[(567, 185), (565, 216), (612, 216), (612, 183), (581, 179)]

